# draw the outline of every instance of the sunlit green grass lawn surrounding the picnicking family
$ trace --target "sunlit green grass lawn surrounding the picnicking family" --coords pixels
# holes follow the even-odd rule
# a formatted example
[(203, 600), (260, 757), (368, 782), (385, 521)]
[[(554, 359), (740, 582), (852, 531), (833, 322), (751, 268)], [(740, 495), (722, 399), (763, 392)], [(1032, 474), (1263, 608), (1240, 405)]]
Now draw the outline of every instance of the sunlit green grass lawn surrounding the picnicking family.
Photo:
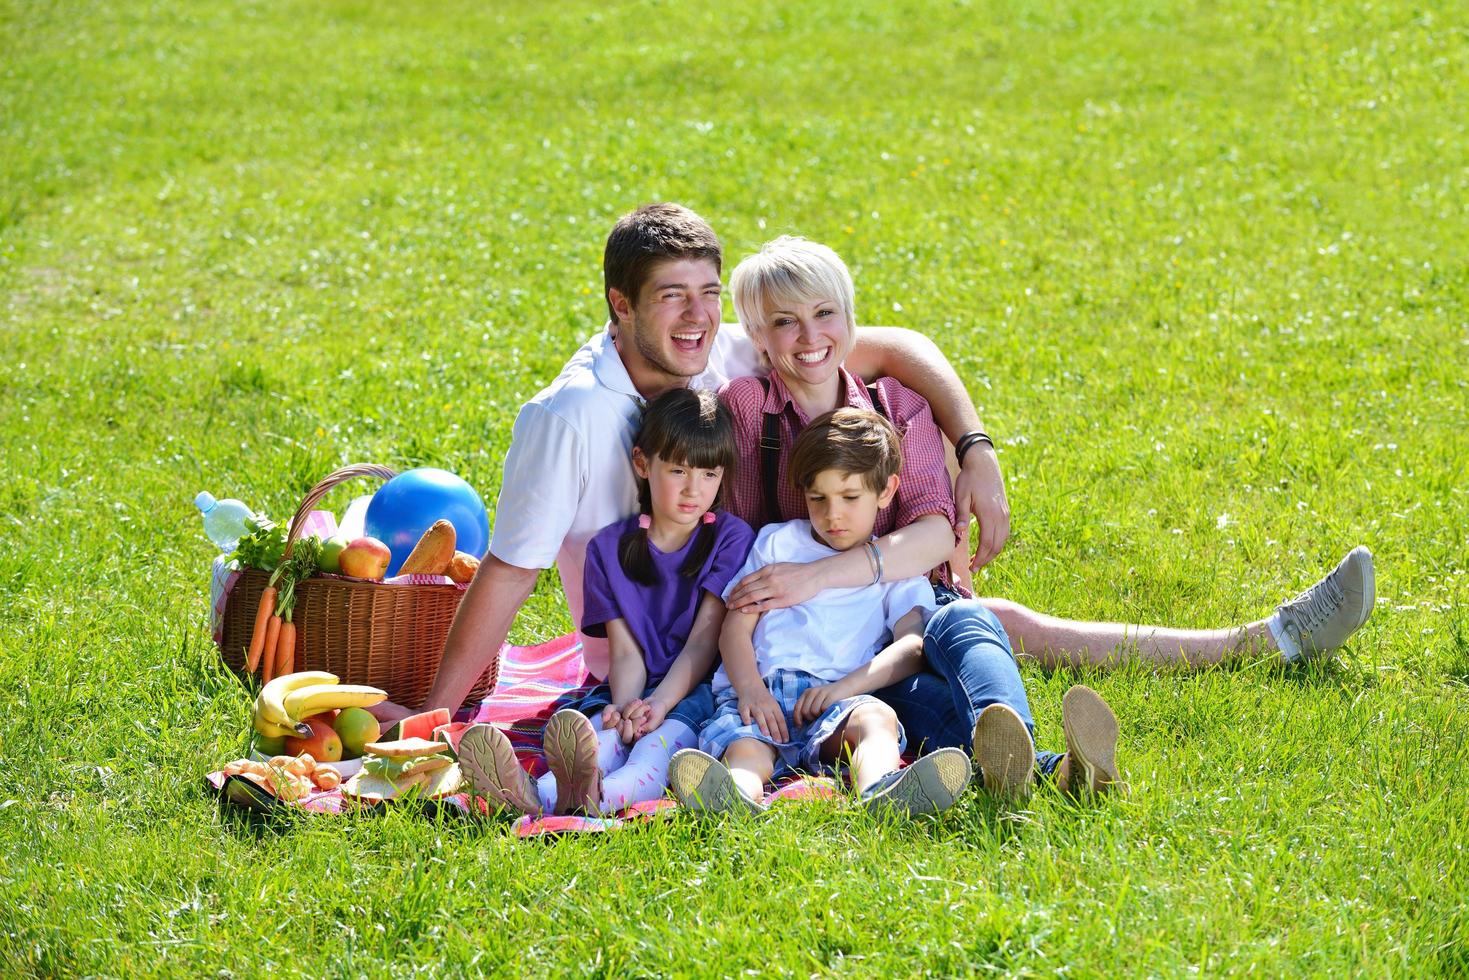
[[(0, 973), (1469, 971), (1469, 35), (1448, 4), (0, 0)], [(617, 215), (836, 247), (1002, 444), (987, 592), (1328, 666), (1084, 674), (1134, 792), (607, 837), (257, 823), (191, 498), (494, 501)], [(347, 491), (332, 502), (341, 504)], [(569, 626), (554, 576), (514, 636)], [(1077, 674), (1027, 669), (1042, 745)]]

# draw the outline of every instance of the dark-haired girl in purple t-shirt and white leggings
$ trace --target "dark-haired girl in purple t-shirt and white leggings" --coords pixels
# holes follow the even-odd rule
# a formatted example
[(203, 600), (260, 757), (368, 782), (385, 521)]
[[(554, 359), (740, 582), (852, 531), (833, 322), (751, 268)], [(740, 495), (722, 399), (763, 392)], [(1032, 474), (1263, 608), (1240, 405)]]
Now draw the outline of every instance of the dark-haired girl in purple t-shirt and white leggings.
[(551, 771), (539, 780), (499, 729), (467, 729), (460, 765), (474, 793), (524, 814), (611, 813), (664, 795), (668, 760), (714, 714), (720, 595), (755, 538), (712, 510), (734, 458), (712, 392), (674, 388), (648, 404), (632, 451), (640, 513), (586, 548), (582, 632), (608, 639), (607, 683), (546, 723)]

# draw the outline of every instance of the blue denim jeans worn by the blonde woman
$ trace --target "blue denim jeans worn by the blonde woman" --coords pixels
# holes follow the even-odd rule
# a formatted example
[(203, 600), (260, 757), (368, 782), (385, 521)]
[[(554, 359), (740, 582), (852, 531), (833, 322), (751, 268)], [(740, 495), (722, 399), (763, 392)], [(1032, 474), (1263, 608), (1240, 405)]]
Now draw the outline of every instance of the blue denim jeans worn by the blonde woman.
[[(898, 713), (908, 745), (921, 752), (950, 745), (970, 751), (974, 720), (992, 704), (1014, 708), (1034, 739), (1025, 685), (999, 619), (977, 599), (945, 602), (955, 594), (943, 586), (937, 594), (943, 605), (923, 635), (928, 669), (876, 692)], [(1059, 761), (1056, 752), (1036, 752), (1042, 773), (1053, 771)]]

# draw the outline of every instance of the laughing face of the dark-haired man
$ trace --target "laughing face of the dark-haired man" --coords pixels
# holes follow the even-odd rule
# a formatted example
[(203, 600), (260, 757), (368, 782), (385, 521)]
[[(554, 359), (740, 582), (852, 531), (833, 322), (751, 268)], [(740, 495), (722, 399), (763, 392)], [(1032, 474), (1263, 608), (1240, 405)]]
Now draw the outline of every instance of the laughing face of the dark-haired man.
[(654, 266), (638, 301), (613, 289), (617, 350), (638, 391), (651, 398), (704, 373), (720, 329), (720, 270), (707, 259)]

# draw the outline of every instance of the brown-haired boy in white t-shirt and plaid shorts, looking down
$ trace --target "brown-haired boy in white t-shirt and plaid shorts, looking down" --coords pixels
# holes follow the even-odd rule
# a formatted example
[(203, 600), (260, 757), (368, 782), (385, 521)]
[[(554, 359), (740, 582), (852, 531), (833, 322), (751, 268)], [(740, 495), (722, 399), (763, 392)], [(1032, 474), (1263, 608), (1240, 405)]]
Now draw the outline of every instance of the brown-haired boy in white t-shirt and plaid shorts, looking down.
[(874, 811), (936, 813), (968, 785), (970, 760), (956, 748), (899, 768), (902, 726), (871, 696), (923, 667), (923, 627), (936, 608), (923, 577), (880, 582), (873, 527), (898, 492), (899, 461), (893, 426), (861, 408), (830, 411), (796, 439), (789, 473), (809, 520), (764, 527), (732, 583), (777, 561), (853, 550), (867, 552), (873, 583), (827, 589), (790, 608), (729, 613), (714, 718), (699, 749), (679, 752), (670, 765), (673, 792), (690, 810), (758, 813), (776, 773), (817, 770), (845, 752), (852, 783)]

